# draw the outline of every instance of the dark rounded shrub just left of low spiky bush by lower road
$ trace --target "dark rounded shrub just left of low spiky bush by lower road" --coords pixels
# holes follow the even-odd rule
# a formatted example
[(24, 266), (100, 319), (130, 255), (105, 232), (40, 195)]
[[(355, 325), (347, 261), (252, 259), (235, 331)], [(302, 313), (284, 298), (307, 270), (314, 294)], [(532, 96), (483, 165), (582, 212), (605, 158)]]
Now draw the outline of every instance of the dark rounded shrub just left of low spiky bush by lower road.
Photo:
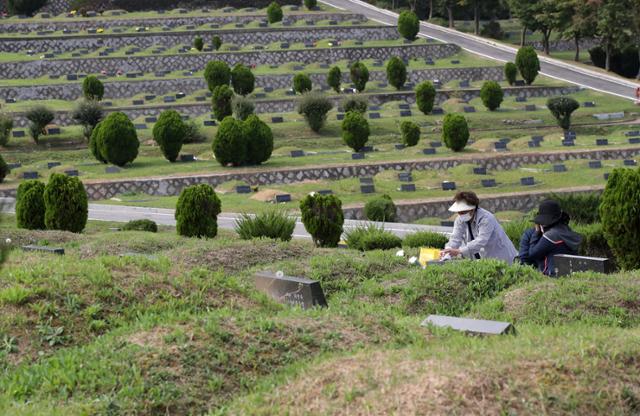
[(185, 237), (213, 238), (218, 234), (220, 199), (210, 185), (185, 188), (176, 205), (176, 230)]

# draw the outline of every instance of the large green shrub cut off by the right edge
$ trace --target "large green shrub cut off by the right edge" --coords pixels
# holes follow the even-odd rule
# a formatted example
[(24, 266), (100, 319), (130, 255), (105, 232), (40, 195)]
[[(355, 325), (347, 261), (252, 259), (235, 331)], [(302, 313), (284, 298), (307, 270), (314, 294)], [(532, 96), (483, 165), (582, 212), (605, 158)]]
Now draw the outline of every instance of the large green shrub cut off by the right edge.
[(602, 194), (600, 218), (618, 264), (640, 268), (640, 169), (614, 169)]

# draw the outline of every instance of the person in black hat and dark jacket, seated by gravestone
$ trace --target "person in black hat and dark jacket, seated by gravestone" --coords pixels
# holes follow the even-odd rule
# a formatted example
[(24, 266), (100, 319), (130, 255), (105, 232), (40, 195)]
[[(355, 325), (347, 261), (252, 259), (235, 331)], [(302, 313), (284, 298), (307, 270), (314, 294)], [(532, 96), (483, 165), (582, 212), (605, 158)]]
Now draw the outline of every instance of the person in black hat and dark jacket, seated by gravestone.
[(582, 236), (569, 228), (569, 215), (552, 199), (542, 201), (533, 222), (535, 228), (520, 238), (520, 261), (538, 267), (547, 276), (555, 276), (553, 256), (577, 254)]

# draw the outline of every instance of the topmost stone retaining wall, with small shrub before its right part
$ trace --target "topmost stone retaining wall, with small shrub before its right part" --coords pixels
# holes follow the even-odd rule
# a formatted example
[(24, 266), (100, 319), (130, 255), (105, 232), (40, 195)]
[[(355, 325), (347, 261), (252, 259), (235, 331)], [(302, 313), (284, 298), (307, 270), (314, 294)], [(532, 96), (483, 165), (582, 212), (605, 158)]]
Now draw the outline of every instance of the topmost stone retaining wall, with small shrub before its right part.
[[(135, 1), (135, 0), (134, 0)], [(42, 32), (42, 31), (60, 31), (63, 29), (70, 30), (87, 30), (90, 28), (102, 27), (104, 29), (113, 27), (170, 27), (175, 28), (186, 25), (209, 25), (217, 24), (224, 26), (229, 23), (243, 23), (248, 24), (255, 21), (264, 20), (266, 15), (261, 14), (242, 14), (242, 15), (221, 15), (221, 16), (162, 16), (152, 18), (139, 18), (139, 19), (101, 19), (95, 18), (81, 18), (77, 17), (73, 20), (54, 21), (42, 19), (38, 22), (16, 22), (4, 23), (0, 20), (0, 33), (8, 32)], [(336, 22), (346, 21), (365, 21), (366, 18), (357, 13), (309, 13), (309, 12), (285, 12), (284, 21), (296, 22), (298, 20), (313, 20), (318, 22), (321, 20), (335, 20)]]

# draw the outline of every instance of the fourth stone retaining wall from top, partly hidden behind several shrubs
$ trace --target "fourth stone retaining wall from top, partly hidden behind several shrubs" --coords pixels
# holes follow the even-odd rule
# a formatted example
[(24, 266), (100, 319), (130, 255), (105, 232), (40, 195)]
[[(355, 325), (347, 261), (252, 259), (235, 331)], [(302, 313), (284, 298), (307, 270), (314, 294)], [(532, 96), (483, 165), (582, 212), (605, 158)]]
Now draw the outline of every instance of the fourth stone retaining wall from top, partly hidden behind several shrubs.
[[(256, 87), (271, 87), (274, 90), (291, 88), (294, 74), (273, 74), (257, 75)], [(309, 74), (313, 85), (327, 88), (326, 74)], [(343, 82), (350, 83), (349, 74), (343, 73)], [(386, 82), (386, 73), (381, 70), (369, 73), (370, 82)], [(452, 80), (482, 81), (494, 80), (502, 81), (504, 72), (502, 67), (482, 67), (482, 68), (434, 68), (418, 69), (409, 71), (409, 82), (418, 83), (424, 80), (440, 80), (447, 83)], [(139, 94), (166, 95), (176, 92), (193, 94), (197, 91), (206, 90), (207, 84), (202, 77), (176, 78), (176, 79), (154, 79), (148, 81), (122, 81), (104, 82), (104, 99), (129, 98)], [(75, 100), (82, 96), (82, 85), (80, 82), (67, 82), (63, 84), (51, 85), (24, 85), (0, 87), (0, 100), (13, 98), (16, 100), (41, 100), (43, 98), (52, 100)]]

